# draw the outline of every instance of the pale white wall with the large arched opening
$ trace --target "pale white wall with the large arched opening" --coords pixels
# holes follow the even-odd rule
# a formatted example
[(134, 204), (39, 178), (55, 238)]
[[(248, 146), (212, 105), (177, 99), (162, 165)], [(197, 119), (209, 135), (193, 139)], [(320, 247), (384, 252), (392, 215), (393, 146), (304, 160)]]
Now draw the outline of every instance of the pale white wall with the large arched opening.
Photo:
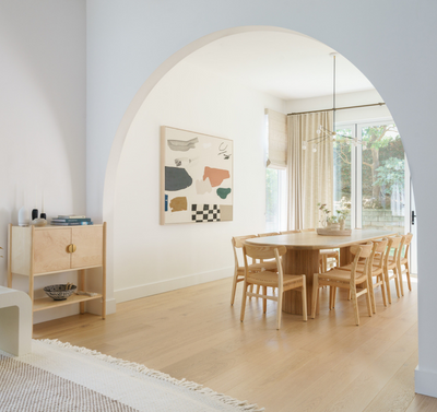
[[(184, 56), (214, 38), (265, 26), (323, 42), (369, 79), (402, 136), (417, 215), (427, 222), (418, 237), (416, 390), (437, 396), (437, 276), (430, 252), (437, 229), (437, 192), (429, 190), (437, 151), (437, 142), (429, 139), (437, 110), (436, 15), (437, 2), (429, 0), (87, 2), (87, 210), (113, 220), (114, 176), (129, 125), (156, 82)], [(113, 237), (110, 234), (109, 290)]]

